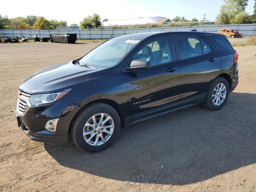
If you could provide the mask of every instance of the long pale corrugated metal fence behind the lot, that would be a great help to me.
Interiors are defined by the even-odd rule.
[[[34,35],[39,37],[50,37],[50,34],[76,33],[77,39],[110,39],[117,36],[141,32],[152,31],[191,31],[196,29],[200,32],[217,33],[220,28],[232,28],[239,30],[243,36],[252,36],[256,34],[256,24],[240,25],[208,25],[208,26],[191,26],[191,27],[160,27],[160,28],[136,28],[136,29],[103,29],[103,30],[0,30],[4,36],[25,36],[33,38]]]

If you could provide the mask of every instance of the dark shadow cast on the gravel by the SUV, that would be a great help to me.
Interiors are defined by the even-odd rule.
[[[218,111],[200,105],[123,129],[98,153],[45,144],[62,166],[104,178],[191,184],[256,162],[256,94],[231,93]]]

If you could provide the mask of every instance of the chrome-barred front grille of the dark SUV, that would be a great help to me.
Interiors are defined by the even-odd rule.
[[[16,111],[20,115],[24,115],[26,113],[28,106],[30,106],[28,99],[31,96],[32,96],[31,94],[28,94],[28,93],[25,93],[25,92],[22,92],[21,90],[19,90]]]

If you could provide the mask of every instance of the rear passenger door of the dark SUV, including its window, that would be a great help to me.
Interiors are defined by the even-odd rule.
[[[180,66],[179,99],[188,104],[202,102],[210,80],[220,70],[220,55],[199,36],[174,37]]]

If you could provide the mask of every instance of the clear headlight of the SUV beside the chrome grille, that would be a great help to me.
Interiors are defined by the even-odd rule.
[[[58,92],[58,93],[35,94],[29,98],[29,102],[32,106],[54,102],[54,101],[59,100],[60,98],[64,97],[70,91],[71,91],[71,89],[64,90],[64,91]]]

